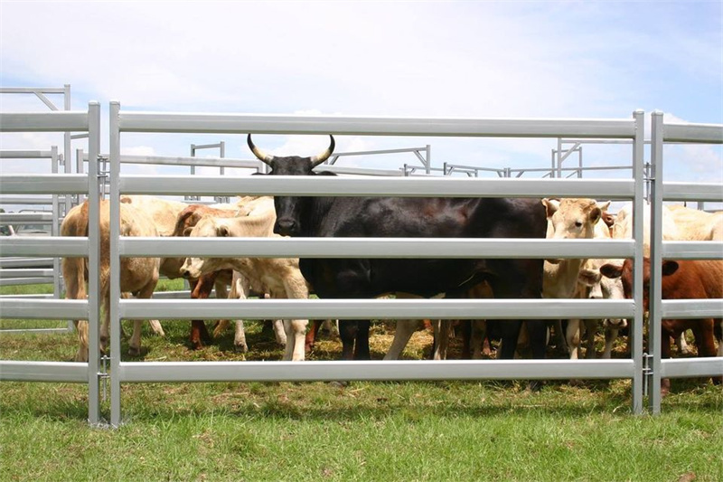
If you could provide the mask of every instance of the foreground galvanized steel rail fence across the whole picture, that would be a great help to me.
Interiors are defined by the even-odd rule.
[[[89,113],[70,118],[53,119],[58,113],[23,115],[0,114],[3,130],[89,130],[89,159],[98,156],[98,105],[91,104]],[[655,119],[656,115],[653,115]],[[69,124],[73,125],[70,126]],[[80,124],[80,126],[79,126]],[[658,125],[660,124],[660,125]],[[653,122],[653,163],[660,163],[662,142],[669,138],[694,142],[723,142],[723,126],[671,127],[670,137],[661,134],[666,125]],[[657,131],[656,131],[657,129]],[[654,191],[665,199],[702,199],[723,201],[720,185],[699,184],[694,187],[671,184],[662,186],[660,177],[646,179],[643,168],[643,112],[635,111],[630,119],[445,119],[445,118],[346,118],[228,114],[175,114],[126,112],[117,102],[110,104],[110,216],[119,218],[120,194],[182,194],[237,195],[282,194],[310,196],[450,196],[450,197],[595,197],[598,199],[632,200],[634,212],[643,212],[644,184],[658,186]],[[344,178],[283,176],[216,176],[201,175],[121,175],[121,137],[126,132],[162,133],[234,133],[234,134],[334,134],[374,136],[452,136],[452,137],[576,137],[581,139],[627,139],[631,144],[633,179],[630,180],[568,180],[568,179],[480,179],[480,178]],[[656,134],[657,132],[657,134]],[[667,132],[667,130],[665,131]],[[657,136],[657,137],[656,137]],[[660,152],[654,145],[660,142]],[[89,175],[52,183],[37,183],[23,176],[3,175],[3,189],[13,193],[73,192],[89,193],[91,206],[97,202],[98,175],[96,163],[89,163]],[[72,177],[72,176],[71,176]],[[82,179],[82,180],[81,180]],[[51,181],[48,178],[48,181]],[[161,181],[161,182],[159,182]],[[663,187],[663,189],[661,189]],[[697,196],[697,197],[696,197]],[[662,199],[662,198],[661,198]],[[661,200],[656,198],[653,219],[660,216]],[[656,211],[657,209],[657,211]],[[91,213],[97,220],[97,208]],[[95,224],[95,226],[93,226]],[[643,276],[642,262],[635,263],[634,299],[632,300],[564,300],[564,299],[311,299],[311,300],[187,300],[187,299],[120,299],[117,277],[120,258],[167,256],[253,256],[253,257],[315,257],[315,258],[633,258],[643,257],[643,216],[634,216],[633,240],[510,240],[510,239],[376,239],[376,238],[294,238],[294,239],[199,239],[199,238],[122,238],[119,223],[111,222],[110,319],[110,423],[121,423],[120,387],[123,383],[141,382],[212,382],[212,381],[331,381],[331,380],[449,380],[449,379],[570,379],[620,378],[632,380],[632,410],[643,411],[643,376],[651,382],[651,408],[660,410],[661,374],[664,376],[700,376],[723,374],[719,359],[690,360],[682,364],[662,363],[660,336],[655,343],[653,331],[652,372],[643,372]],[[655,224],[653,223],[653,231]],[[91,281],[97,283],[97,222],[88,241],[55,239],[52,244],[29,240],[29,244],[6,243],[13,253],[23,255],[84,256],[90,255]],[[659,233],[658,233],[659,234]],[[660,236],[653,237],[653,256],[661,253]],[[688,247],[691,246],[691,250]],[[95,247],[95,249],[91,249]],[[665,251],[667,249],[667,251]],[[657,250],[657,251],[656,251]],[[663,255],[683,258],[716,258],[723,252],[723,243],[662,243]],[[657,254],[656,254],[657,253]],[[682,256],[678,256],[681,254]],[[93,260],[93,257],[96,257]],[[660,282],[660,275],[653,284]],[[2,317],[87,317],[90,320],[89,364],[50,364],[0,362],[2,380],[46,380],[89,383],[89,421],[99,421],[98,365],[98,291],[89,291],[89,301],[55,302],[49,309],[39,309],[0,301]],[[94,298],[95,297],[95,298]],[[660,292],[658,292],[660,298]],[[659,305],[651,308],[651,319],[661,314]],[[678,305],[664,314],[678,314]],[[689,307],[685,305],[685,307]],[[695,306],[700,307],[699,303]],[[723,300],[704,303],[706,309],[723,316]],[[9,309],[9,311],[6,311]],[[657,311],[656,311],[657,310]],[[700,309],[693,308],[696,314]],[[122,362],[120,357],[121,319],[221,319],[221,318],[337,318],[337,319],[512,319],[512,318],[628,318],[631,323],[632,355],[615,360],[462,360],[462,361],[385,361],[385,362]],[[659,329],[653,323],[652,330]],[[54,378],[61,374],[63,380]],[[644,375],[643,375],[644,373]]]

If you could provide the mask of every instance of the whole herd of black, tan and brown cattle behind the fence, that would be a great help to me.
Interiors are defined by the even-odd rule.
[[[329,175],[314,172],[331,156],[330,146],[319,156],[270,156],[255,146],[251,151],[270,167],[268,175]],[[631,205],[616,215],[609,203],[593,199],[405,198],[405,197],[239,197],[236,203],[186,204],[142,195],[123,195],[120,203],[121,236],[191,237],[440,237],[440,238],[631,238]],[[650,213],[644,213],[645,223]],[[100,299],[109,298],[109,209],[100,206]],[[683,206],[663,207],[663,239],[723,241],[723,213],[706,213]],[[647,233],[648,230],[646,229]],[[70,210],[61,226],[62,236],[88,235],[88,204]],[[649,250],[644,240],[643,250]],[[62,262],[66,298],[86,297],[86,260]],[[160,275],[188,279],[192,298],[247,298],[251,292],[270,298],[632,298],[631,260],[432,260],[432,259],[254,259],[254,258],[122,258],[120,288],[123,296],[150,298]],[[723,260],[674,261],[662,266],[662,298],[723,298]],[[650,270],[645,259],[644,303],[647,309]],[[230,291],[228,287],[230,286]],[[100,327],[101,349],[108,345],[108,309]],[[131,354],[140,351],[140,321],[130,339]],[[582,335],[587,333],[587,357],[595,356],[598,326],[606,332],[604,358],[626,326],[624,319],[567,320],[556,326],[564,335],[570,358],[577,358]],[[286,345],[285,360],[304,360],[314,343],[319,323],[308,330],[307,320],[274,323],[277,341]],[[76,360],[88,359],[87,322],[77,322],[80,344]],[[369,359],[369,320],[341,320],[339,335],[343,359]],[[385,359],[396,359],[418,329],[417,320],[399,320]],[[435,358],[446,356],[449,323],[433,323]],[[155,331],[163,333],[152,321]],[[464,354],[479,357],[483,340],[499,339],[498,357],[510,359],[522,343],[535,358],[544,358],[549,322],[504,320],[469,322]],[[522,329],[525,328],[525,329]],[[222,329],[217,326],[214,335]],[[722,319],[663,320],[663,356],[670,356],[671,340],[687,350],[682,334],[692,330],[700,356],[723,356]],[[716,349],[714,338],[718,341]],[[202,320],[192,321],[194,348],[211,336]],[[526,340],[523,342],[522,340]],[[242,321],[236,322],[234,344],[247,349]]]

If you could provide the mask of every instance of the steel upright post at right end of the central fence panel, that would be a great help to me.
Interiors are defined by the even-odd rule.
[[[633,412],[643,413],[643,156],[644,149],[644,112],[635,110],[635,138],[633,143],[633,175],[635,180],[633,234],[635,240],[633,296],[635,313],[631,337],[631,354],[633,356]]]

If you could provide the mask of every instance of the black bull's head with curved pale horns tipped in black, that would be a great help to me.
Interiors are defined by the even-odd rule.
[[[247,141],[254,156],[257,156],[261,162],[271,167],[268,175],[315,175],[314,168],[322,164],[333,153],[333,136],[329,137],[331,138],[331,144],[323,153],[313,157],[271,156],[254,145],[250,134]],[[308,201],[310,200],[304,197],[274,196],[274,206],[277,211],[274,232],[282,236],[300,235],[305,205]]]

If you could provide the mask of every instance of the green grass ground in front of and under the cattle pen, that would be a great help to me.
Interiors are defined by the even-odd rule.
[[[39,324],[63,326],[2,321]],[[231,332],[192,352],[188,322],[164,329],[164,338],[146,330],[144,354],[124,359],[281,357],[257,323],[245,355]],[[372,357],[391,337],[374,327]],[[418,332],[405,358],[430,343]],[[75,349],[72,334],[0,335],[5,360],[70,361]],[[310,358],[340,350],[325,337]],[[723,392],[698,380],[674,380],[656,417],[630,413],[627,381],[540,392],[489,381],[127,384],[117,430],[90,428],[87,400],[85,385],[0,383],[0,481],[723,480]]]

